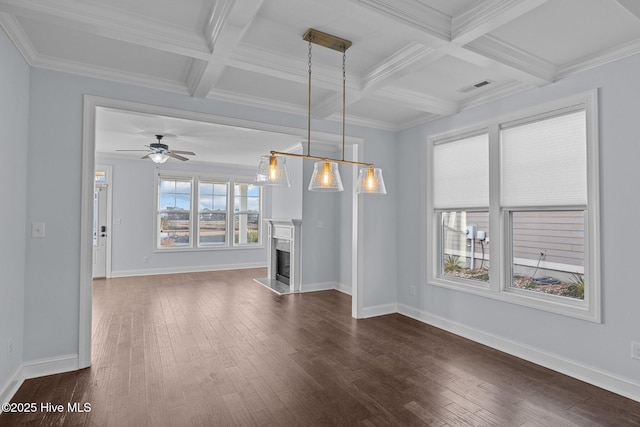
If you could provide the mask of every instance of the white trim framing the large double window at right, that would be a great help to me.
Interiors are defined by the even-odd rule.
[[[534,116],[548,115],[554,111],[584,105],[587,126],[587,207],[585,210],[585,265],[584,277],[587,283],[584,300],[572,300],[546,295],[543,293],[525,292],[514,289],[511,284],[508,213],[510,210],[501,207],[500,201],[500,125],[527,120]],[[562,314],[596,323],[602,321],[601,310],[601,274],[600,274],[600,196],[599,196],[599,141],[598,141],[598,92],[597,89],[528,108],[519,112],[500,116],[478,123],[474,126],[433,135],[426,141],[428,173],[426,195],[426,276],[427,285],[434,285],[470,294],[480,295],[512,304],[527,306],[552,313]],[[491,275],[488,285],[481,282],[470,282],[443,277],[439,272],[439,223],[438,213],[433,207],[433,147],[438,143],[464,138],[470,134],[489,133],[489,245],[491,259]],[[473,210],[469,207],[467,210]],[[553,209],[549,206],[544,209]],[[566,209],[567,207],[562,207]],[[576,207],[578,209],[585,208]],[[536,209],[540,209],[539,207]],[[465,210],[465,209],[461,209]]]

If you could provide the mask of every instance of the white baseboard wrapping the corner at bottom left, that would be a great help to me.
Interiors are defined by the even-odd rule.
[[[48,359],[33,360],[18,367],[0,389],[0,403],[10,402],[24,380],[78,370],[78,355],[69,354]],[[0,413],[2,410],[0,409]]]

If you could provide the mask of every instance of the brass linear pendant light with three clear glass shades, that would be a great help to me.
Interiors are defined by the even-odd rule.
[[[318,160],[313,169],[313,176],[309,183],[310,191],[342,191],[342,179],[338,163],[364,166],[358,174],[356,193],[387,194],[382,178],[382,169],[374,167],[373,163],[354,162],[344,159],[345,150],[345,110],[346,110],[346,51],[351,47],[351,42],[322,31],[307,30],[302,37],[309,42],[309,94],[307,115],[307,154],[284,153],[271,151],[268,156],[262,156],[256,174],[256,183],[259,185],[274,185],[290,187],[289,171],[285,156],[301,157],[303,159]],[[342,52],[342,159],[312,156],[311,153],[311,44],[328,47]]]

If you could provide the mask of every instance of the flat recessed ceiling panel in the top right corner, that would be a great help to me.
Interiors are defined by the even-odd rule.
[[[562,66],[640,37],[640,23],[615,1],[553,0],[491,35]]]

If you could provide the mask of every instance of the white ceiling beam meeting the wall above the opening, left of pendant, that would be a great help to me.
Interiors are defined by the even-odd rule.
[[[218,0],[207,20],[205,38],[213,50],[207,61],[194,61],[187,84],[194,98],[206,97],[226,68],[264,0]]]

